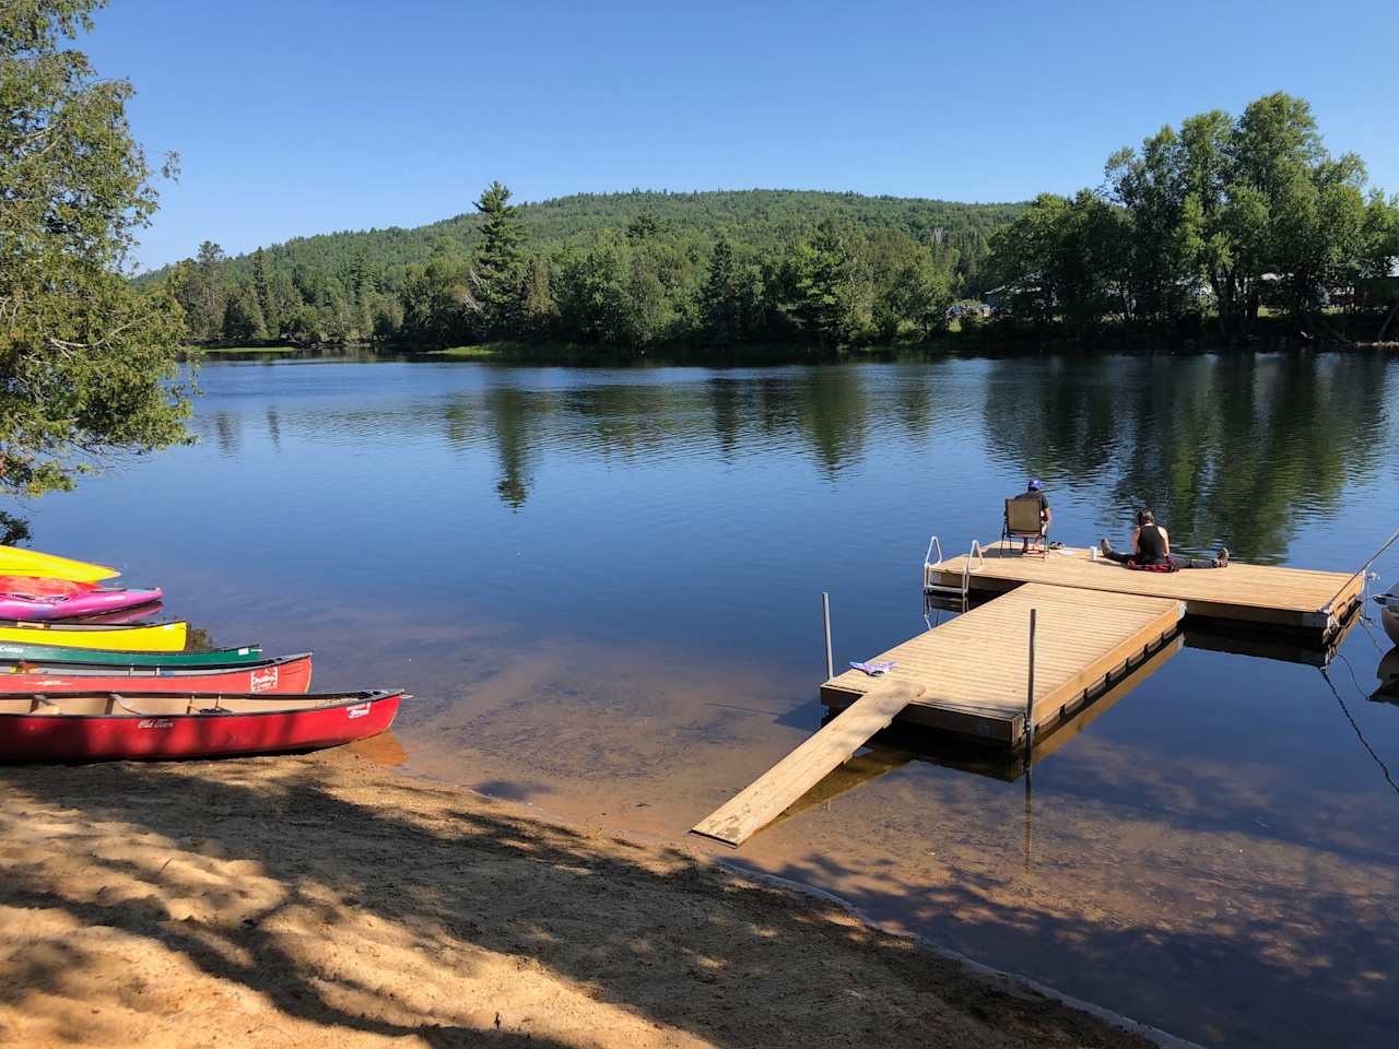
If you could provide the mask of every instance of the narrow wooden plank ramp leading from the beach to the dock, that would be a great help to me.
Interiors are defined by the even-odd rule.
[[[923,691],[923,685],[909,681],[876,680],[838,718],[695,824],[691,834],[739,848],[820,783],[831,769],[849,759]]]

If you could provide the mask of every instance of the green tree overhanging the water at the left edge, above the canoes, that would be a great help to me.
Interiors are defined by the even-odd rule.
[[[155,211],[132,85],[67,46],[97,0],[0,6],[0,485],[38,494],[187,441],[185,326],[125,276]],[[169,165],[168,165],[169,166]]]

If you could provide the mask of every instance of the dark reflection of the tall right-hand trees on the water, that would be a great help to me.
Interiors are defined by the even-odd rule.
[[[1372,355],[1165,357],[997,362],[985,425],[997,456],[1048,478],[1108,487],[1123,526],[1150,506],[1181,545],[1281,559],[1301,512],[1388,455],[1385,382]]]

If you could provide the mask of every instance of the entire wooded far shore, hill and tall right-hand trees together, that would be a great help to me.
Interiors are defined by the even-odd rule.
[[[1030,204],[841,193],[620,193],[332,234],[155,276],[196,341],[918,343],[1112,331],[1242,338],[1262,322],[1382,337],[1399,197],[1332,157],[1273,94],[1114,154],[1105,180]],[[986,298],[993,311],[957,311]],[[954,319],[956,315],[960,317]]]

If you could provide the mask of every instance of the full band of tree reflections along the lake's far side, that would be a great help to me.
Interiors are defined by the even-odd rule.
[[[986,460],[1038,473],[1123,526],[1150,505],[1181,545],[1226,543],[1269,561],[1286,555],[1304,515],[1336,509],[1347,481],[1375,476],[1392,432],[1393,368],[1375,355],[585,369],[567,382],[553,369],[463,368],[460,386],[424,383],[376,410],[271,407],[270,442],[436,434],[463,455],[488,449],[494,495],[512,509],[529,502],[551,459],[683,470],[686,460],[795,457],[831,485],[886,466],[891,484],[916,484],[925,456],[950,456],[963,477]],[[228,411],[201,421],[225,455],[236,455],[242,422]],[[947,476],[923,480],[937,501],[985,497],[956,491]]]

